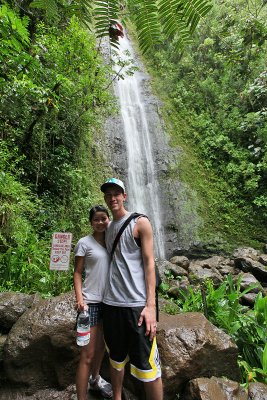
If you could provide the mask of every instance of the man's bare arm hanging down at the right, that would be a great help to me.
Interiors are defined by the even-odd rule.
[[[136,223],[136,233],[141,240],[142,257],[144,262],[144,272],[146,281],[146,306],[143,309],[138,325],[141,325],[143,320],[146,323],[146,335],[152,340],[156,335],[156,275],[155,275],[155,260],[153,251],[153,232],[149,220],[145,217],[138,219]]]

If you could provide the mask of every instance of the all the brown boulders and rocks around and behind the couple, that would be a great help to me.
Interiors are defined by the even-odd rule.
[[[180,291],[186,292],[207,279],[218,287],[229,274],[234,282],[239,281],[242,291],[253,285],[253,290],[242,296],[247,309],[253,307],[258,293],[267,294],[267,254],[252,248],[237,249],[229,258],[214,255],[191,259],[178,254],[170,261],[157,262],[157,267],[171,298],[179,298]],[[76,400],[73,382],[79,349],[75,344],[74,300],[74,292],[49,299],[0,293],[0,400]],[[160,299],[161,311],[170,306],[168,302]],[[161,312],[157,341],[166,400],[176,399],[178,393],[183,400],[200,398],[201,390],[210,392],[211,399],[226,398],[226,393],[236,397],[238,391],[236,398],[240,400],[267,400],[266,385],[250,384],[249,393],[242,392],[236,344],[202,313]],[[125,391],[123,400],[143,400],[143,389],[126,372],[125,386],[131,393]],[[101,375],[109,379],[107,357]],[[66,389],[59,391],[55,389],[58,387]],[[220,396],[214,396],[214,387]],[[101,396],[88,395],[88,400],[97,398]]]

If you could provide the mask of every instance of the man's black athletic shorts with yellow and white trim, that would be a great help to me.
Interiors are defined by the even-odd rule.
[[[145,322],[138,326],[144,307],[114,307],[103,304],[103,327],[111,365],[118,371],[130,361],[131,374],[143,382],[161,376],[156,338],[145,336]]]

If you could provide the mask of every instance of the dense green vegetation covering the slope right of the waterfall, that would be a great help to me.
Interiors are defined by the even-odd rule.
[[[266,21],[261,1],[216,1],[186,52],[166,39],[146,62],[183,150],[169,173],[197,193],[201,239],[232,248],[267,236]]]

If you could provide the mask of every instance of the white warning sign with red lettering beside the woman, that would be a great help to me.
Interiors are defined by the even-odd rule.
[[[70,265],[72,233],[55,232],[52,238],[50,269],[66,271]]]

